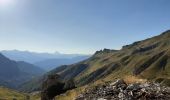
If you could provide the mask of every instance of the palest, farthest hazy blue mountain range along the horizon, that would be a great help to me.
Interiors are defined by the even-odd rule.
[[[15,61],[25,61],[28,63],[36,63],[47,59],[71,59],[79,56],[88,56],[82,54],[61,54],[61,53],[36,53],[30,51],[19,50],[3,50],[1,51],[6,57]]]

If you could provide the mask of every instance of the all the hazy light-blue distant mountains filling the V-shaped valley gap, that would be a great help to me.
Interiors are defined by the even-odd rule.
[[[35,53],[19,50],[1,51],[6,57],[15,61],[25,61],[40,68],[49,71],[61,65],[73,64],[90,57],[90,55],[81,54],[61,54],[61,53]]]

